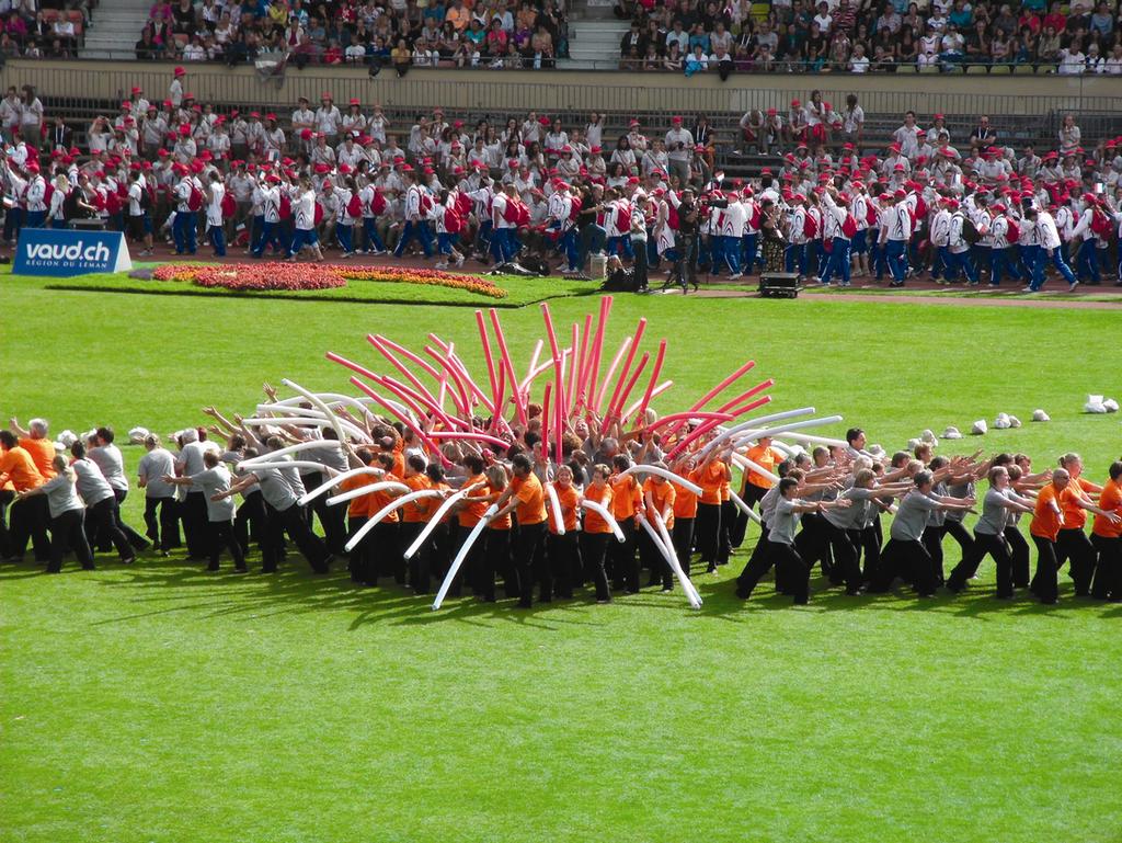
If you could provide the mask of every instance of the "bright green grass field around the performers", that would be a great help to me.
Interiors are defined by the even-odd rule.
[[[481,365],[463,308],[2,282],[0,412],[56,430],[164,433],[286,376],[344,390],[323,352],[373,361],[367,332],[435,331]],[[551,302],[564,326],[596,305]],[[645,348],[670,340],[663,411],[751,357],[778,407],[842,413],[889,450],[1040,406],[1051,423],[958,449],[1075,449],[1095,478],[1122,453],[1118,416],[1079,413],[1120,383],[1111,311],[629,296],[606,345],[641,315]],[[525,360],[539,308],[503,323]],[[1058,607],[1001,603],[988,562],[955,599],[793,608],[769,580],[742,604],[744,559],[697,577],[697,613],[680,592],[432,613],[294,562],[0,569],[0,839],[1122,841],[1116,605],[1077,602],[1066,572]]]

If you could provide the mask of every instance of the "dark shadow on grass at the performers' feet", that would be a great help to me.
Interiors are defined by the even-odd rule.
[[[9,566],[0,569],[0,587],[4,583],[45,576],[34,563]],[[1122,617],[1122,605],[1103,605],[1098,601],[1075,597],[1070,583],[1060,586],[1058,605],[1046,606],[1027,590],[1018,592],[1011,601],[999,599],[992,586],[973,585],[959,595],[940,592],[931,598],[917,597],[908,587],[898,584],[889,594],[849,596],[839,587],[829,586],[822,577],[811,580],[811,601],[807,606],[792,606],[791,598],[778,594],[769,578],[762,581],[748,601],[735,595],[735,575],[741,563],[734,560],[714,575],[696,574],[695,586],[702,597],[700,611],[693,612],[686,604],[675,584],[671,594],[645,589],[641,595],[618,595],[608,605],[595,603],[591,588],[578,589],[569,601],[535,603],[532,608],[518,608],[514,599],[485,603],[475,597],[448,598],[440,611],[432,611],[433,594],[416,595],[390,578],[383,578],[378,586],[360,586],[350,581],[344,562],[335,563],[329,575],[313,574],[298,555],[291,555],[276,574],[234,574],[232,565],[223,559],[223,568],[208,572],[203,563],[187,562],[182,557],[169,559],[141,558],[134,566],[120,566],[101,560],[99,570],[89,574],[76,566],[64,568],[68,572],[94,578],[107,588],[121,590],[134,610],[126,614],[105,617],[94,625],[128,623],[144,617],[174,613],[191,613],[200,617],[243,617],[257,620],[278,615],[312,612],[353,613],[348,629],[358,630],[367,624],[381,623],[402,626],[429,626],[439,623],[460,623],[484,629],[496,623],[558,631],[567,625],[600,626],[608,622],[607,614],[620,610],[655,608],[679,614],[716,618],[732,623],[751,622],[758,612],[852,612],[889,611],[938,613],[975,620],[1001,615],[1047,615],[1070,620],[1075,613],[1089,611],[1105,618]],[[110,577],[100,576],[109,571]],[[435,589],[440,584],[433,583]],[[502,593],[502,589],[499,589]],[[595,614],[594,614],[595,613]]]

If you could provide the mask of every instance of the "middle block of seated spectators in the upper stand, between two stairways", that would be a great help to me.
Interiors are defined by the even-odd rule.
[[[552,67],[565,55],[555,0],[157,0],[138,59],[251,62],[280,54],[310,64]]]

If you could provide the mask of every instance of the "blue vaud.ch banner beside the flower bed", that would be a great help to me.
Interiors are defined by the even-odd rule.
[[[24,228],[11,271],[16,275],[70,277],[131,268],[129,247],[120,231]]]

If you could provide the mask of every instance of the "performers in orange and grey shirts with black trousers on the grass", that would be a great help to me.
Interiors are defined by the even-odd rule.
[[[267,385],[266,392],[276,400]],[[1068,562],[1075,596],[1122,602],[1122,460],[1096,484],[1083,476],[1077,453],[1034,473],[1022,453],[936,456],[921,442],[890,456],[866,447],[864,430],[853,428],[845,446],[809,452],[766,436],[737,446],[746,467],[734,485],[734,448],[707,448],[717,431],[675,453],[675,442],[700,422],[679,437],[666,433],[672,428],[656,433],[653,412],[643,425],[624,431],[616,422],[604,436],[595,432],[599,419],[579,421],[562,434],[560,461],[551,459],[555,438],[542,440],[535,404],[525,424],[511,427],[505,448],[458,440],[440,453],[416,431],[369,412],[335,410],[358,425],[365,443],[291,415],[230,420],[214,407],[204,412],[213,419],[209,428],[184,429],[168,443],[135,432],[146,449],[137,466],[146,537],[121,520],[130,482],[110,428],[71,437],[67,448],[53,442],[45,420],[24,430],[12,419],[0,431],[0,516],[10,512],[0,517],[0,558],[22,562],[30,542],[36,561],[58,572],[71,552],[93,568],[94,550],[116,548],[131,563],[149,542],[165,557],[183,542],[188,561],[218,571],[228,553],[234,570],[246,572],[256,546],[260,570],[269,574],[291,542],[318,574],[346,560],[357,584],[392,579],[427,594],[465,542],[473,542],[452,596],[467,587],[485,602],[502,594],[528,607],[535,593],[539,602],[569,599],[588,586],[590,597],[607,603],[613,593],[637,593],[643,571],[645,587],[673,590],[671,559],[686,576],[727,565],[758,506],[761,532],[735,580],[742,598],[775,568],[776,592],[807,603],[815,565],[828,587],[848,595],[885,593],[898,581],[920,597],[940,587],[957,594],[988,555],[1000,598],[1028,588],[1056,603],[1058,570]],[[435,416],[425,422],[426,431],[438,425]],[[296,460],[288,453],[294,443],[302,448]],[[340,500],[332,505],[323,492]],[[434,494],[415,494],[424,492]],[[967,514],[980,515],[973,533]],[[1031,579],[1022,516],[1037,549]],[[430,521],[436,523],[426,530]],[[480,522],[484,538],[473,541]],[[949,572],[947,535],[960,548]]]

